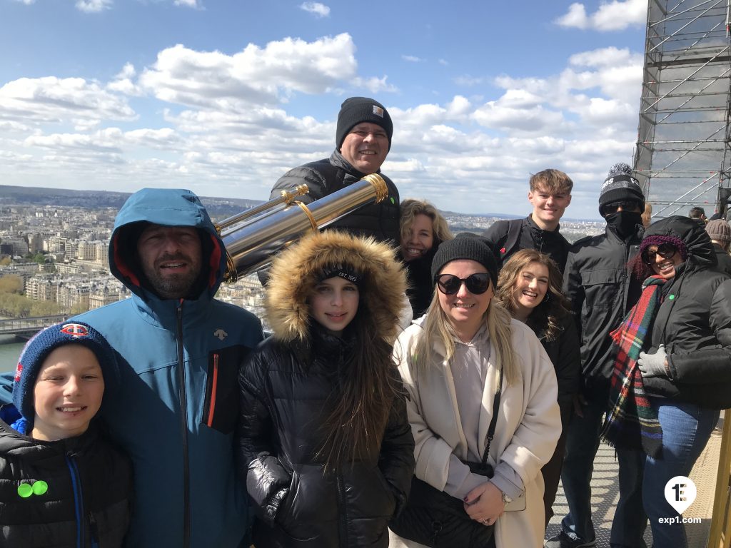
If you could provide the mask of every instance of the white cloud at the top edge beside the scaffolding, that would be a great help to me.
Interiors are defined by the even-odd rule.
[[[597,31],[623,31],[630,26],[643,26],[647,20],[646,0],[612,0],[599,4],[596,12],[588,15],[584,4],[575,2],[568,12],[554,22],[570,28],[593,28]]]

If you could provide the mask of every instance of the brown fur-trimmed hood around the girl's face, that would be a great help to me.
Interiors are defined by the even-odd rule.
[[[374,338],[392,344],[399,332],[406,275],[395,250],[374,238],[327,230],[303,237],[272,263],[265,298],[266,317],[274,338],[284,343],[310,342],[307,297],[325,267],[346,265],[363,275],[357,314],[371,316]]]

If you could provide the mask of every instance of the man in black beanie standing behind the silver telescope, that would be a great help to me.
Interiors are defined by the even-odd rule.
[[[393,123],[385,107],[368,97],[346,99],[338,113],[335,151],[329,159],[295,167],[282,175],[271,191],[271,198],[281,191],[306,184],[310,191],[300,201],[308,204],[357,182],[366,175],[379,173],[391,148]],[[398,189],[379,173],[388,187],[388,196],[344,216],[329,228],[344,229],[376,240],[391,240],[398,245]]]

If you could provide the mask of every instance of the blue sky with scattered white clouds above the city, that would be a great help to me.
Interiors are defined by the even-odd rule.
[[[0,183],[267,199],[329,156],[349,96],[394,123],[401,197],[597,218],[637,138],[647,0],[0,0]],[[1,192],[1,191],[0,191]]]

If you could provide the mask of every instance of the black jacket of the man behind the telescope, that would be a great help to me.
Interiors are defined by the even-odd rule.
[[[380,172],[379,175],[388,186],[388,196],[377,204],[368,204],[358,208],[333,222],[327,228],[345,229],[360,236],[374,236],[379,241],[399,242],[398,189],[385,175]],[[282,175],[274,184],[270,198],[279,197],[283,190],[294,189],[295,186],[306,184],[310,191],[305,196],[299,197],[298,200],[303,204],[308,204],[344,189],[365,176],[364,173],[352,167],[341,153],[334,151],[329,159],[325,158],[295,167]]]

